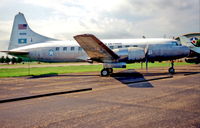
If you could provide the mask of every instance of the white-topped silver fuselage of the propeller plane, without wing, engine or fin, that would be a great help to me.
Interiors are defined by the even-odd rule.
[[[187,56],[189,49],[180,46],[172,39],[112,39],[101,40],[110,49],[123,49],[128,47],[148,47],[149,58],[152,60],[167,60],[170,57],[181,58]],[[87,61],[89,58],[86,52],[76,41],[46,41],[43,43],[31,44],[11,51],[27,51],[28,58],[45,62],[76,62]]]

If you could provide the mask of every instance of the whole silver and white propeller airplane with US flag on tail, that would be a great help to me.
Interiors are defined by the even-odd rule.
[[[76,41],[61,41],[40,35],[29,27],[24,14],[14,18],[7,54],[41,62],[100,62],[101,76],[127,63],[171,60],[169,73],[175,73],[173,60],[188,56],[189,48],[164,38],[110,39],[100,41],[92,34],[74,36]],[[103,43],[104,42],[104,43]]]

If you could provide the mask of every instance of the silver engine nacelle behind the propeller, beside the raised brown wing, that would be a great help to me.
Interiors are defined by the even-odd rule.
[[[129,61],[141,61],[145,58],[145,51],[143,48],[129,47],[113,50],[120,59],[128,59]]]

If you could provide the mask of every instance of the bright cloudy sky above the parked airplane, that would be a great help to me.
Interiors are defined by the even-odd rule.
[[[1,0],[0,50],[7,47],[12,22],[24,13],[35,32],[71,40],[173,37],[200,32],[200,0]]]

